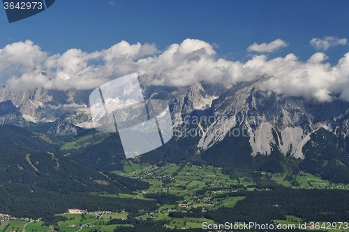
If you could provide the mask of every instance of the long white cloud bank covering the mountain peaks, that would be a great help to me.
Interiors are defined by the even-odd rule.
[[[343,43],[338,41],[336,43]],[[325,50],[322,42],[314,43]],[[249,48],[269,52],[285,45],[285,41],[278,39],[269,44],[255,43]],[[88,53],[70,49],[63,55],[50,55],[28,40],[0,50],[0,76],[12,76],[6,87],[24,90],[34,87],[94,89],[133,72],[156,75],[154,85],[187,86],[207,80],[231,86],[267,73],[274,78],[265,82],[265,89],[279,94],[318,101],[331,101],[336,96],[349,101],[349,52],[335,65],[326,62],[323,52],[316,52],[308,61],[299,61],[290,53],[274,59],[255,55],[243,63],[217,57],[215,48],[216,45],[195,39],[172,44],[163,51],[155,44],[130,45],[121,41],[107,50]]]

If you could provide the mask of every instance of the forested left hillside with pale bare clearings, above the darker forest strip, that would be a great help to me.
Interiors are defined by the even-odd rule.
[[[112,173],[51,152],[0,147],[0,183],[31,184],[62,194],[108,191],[132,193],[149,184]]]

